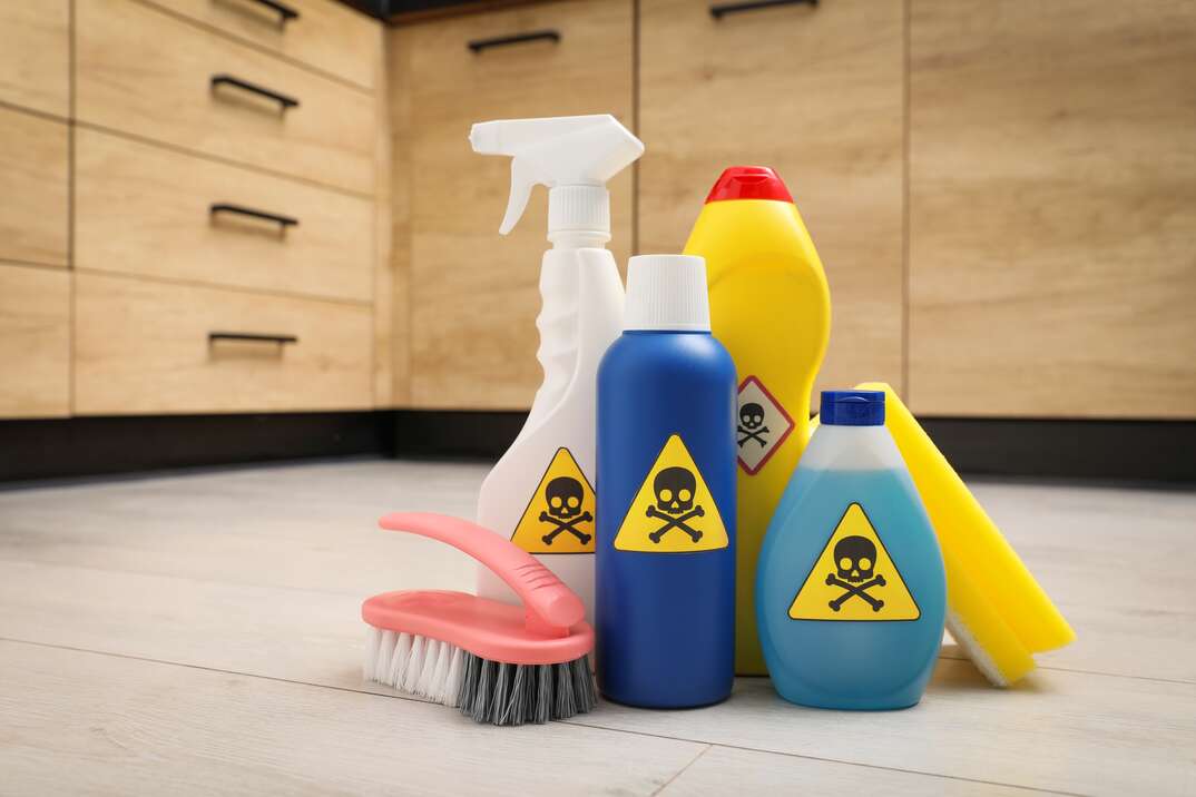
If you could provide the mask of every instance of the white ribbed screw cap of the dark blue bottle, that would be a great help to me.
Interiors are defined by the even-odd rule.
[[[636,255],[627,264],[624,330],[709,332],[706,258]]]

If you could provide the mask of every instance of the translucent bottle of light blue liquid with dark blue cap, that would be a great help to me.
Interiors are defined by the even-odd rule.
[[[904,709],[942,640],[946,580],[922,499],[884,427],[885,394],[826,391],[773,516],[756,618],[773,685],[823,709]]]

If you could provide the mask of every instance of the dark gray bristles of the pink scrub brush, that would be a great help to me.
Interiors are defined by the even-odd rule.
[[[465,654],[457,705],[475,722],[543,724],[598,705],[590,657],[563,664],[506,664]]]

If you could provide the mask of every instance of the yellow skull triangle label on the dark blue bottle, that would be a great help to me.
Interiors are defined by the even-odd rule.
[[[728,544],[727,528],[706,479],[681,436],[671,436],[627,510],[615,535],[615,547],[690,553],[725,548]]]

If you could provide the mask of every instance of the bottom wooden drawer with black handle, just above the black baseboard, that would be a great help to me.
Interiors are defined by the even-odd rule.
[[[75,274],[79,415],[353,410],[371,405],[360,305]],[[295,343],[210,341],[213,333]]]

